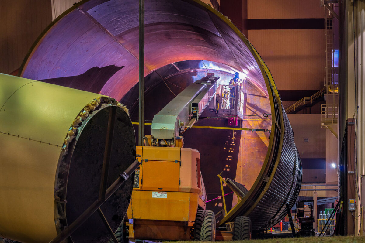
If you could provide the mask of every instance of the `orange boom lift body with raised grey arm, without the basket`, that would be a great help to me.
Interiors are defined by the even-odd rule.
[[[180,134],[215,97],[219,78],[208,73],[189,85],[154,116],[145,146],[137,146],[142,164],[127,212],[129,239],[215,240],[215,215],[205,210],[200,154],[183,148]]]

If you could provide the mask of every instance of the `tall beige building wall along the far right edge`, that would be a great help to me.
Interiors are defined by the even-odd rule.
[[[358,203],[358,199],[365,198],[365,184],[361,183],[365,175],[365,2],[354,1],[354,3],[351,3],[350,0],[345,0],[342,2],[341,7],[343,22],[341,23],[340,34],[343,39],[341,40],[340,49],[338,148],[341,164],[347,164],[349,168],[352,168],[350,166],[354,164],[356,170],[350,176],[347,170],[341,169],[340,176],[342,183],[346,181],[344,180],[346,177],[349,183],[348,185],[341,185],[344,187],[342,193],[345,193],[345,198],[347,196],[347,199],[356,199],[356,211],[353,215],[361,215],[363,209],[360,208],[361,204]],[[352,122],[355,124],[352,124]],[[350,136],[351,133],[355,132],[356,137]],[[343,142],[347,147],[342,146]],[[353,147],[355,147],[355,151]],[[350,181],[354,183],[350,184]],[[349,187],[354,188],[353,192],[348,189]],[[364,205],[364,202],[362,202],[362,205]],[[354,219],[355,223],[353,223],[353,215],[347,214],[347,226],[344,226],[346,227],[345,233],[347,229],[348,234],[357,235],[361,220],[364,219],[363,217],[357,217]],[[353,226],[355,230],[353,230]],[[364,225],[362,234],[365,234]]]

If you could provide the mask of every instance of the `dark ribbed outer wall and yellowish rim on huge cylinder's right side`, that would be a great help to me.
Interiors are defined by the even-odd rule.
[[[262,71],[269,80],[268,86],[271,91],[269,97],[272,107],[272,131],[269,149],[253,187],[219,224],[245,215],[251,218],[253,230],[261,230],[274,226],[287,215],[286,203],[289,203],[290,207],[295,204],[300,191],[302,166],[293,131],[276,85],[268,67],[255,49],[254,53],[260,58]]]

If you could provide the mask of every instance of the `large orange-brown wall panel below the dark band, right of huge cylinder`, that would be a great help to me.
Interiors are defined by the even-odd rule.
[[[323,88],[324,30],[249,30],[248,37],[278,90]]]

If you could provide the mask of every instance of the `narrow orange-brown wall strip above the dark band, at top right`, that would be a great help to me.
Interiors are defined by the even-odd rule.
[[[249,19],[323,18],[319,0],[248,0]]]

